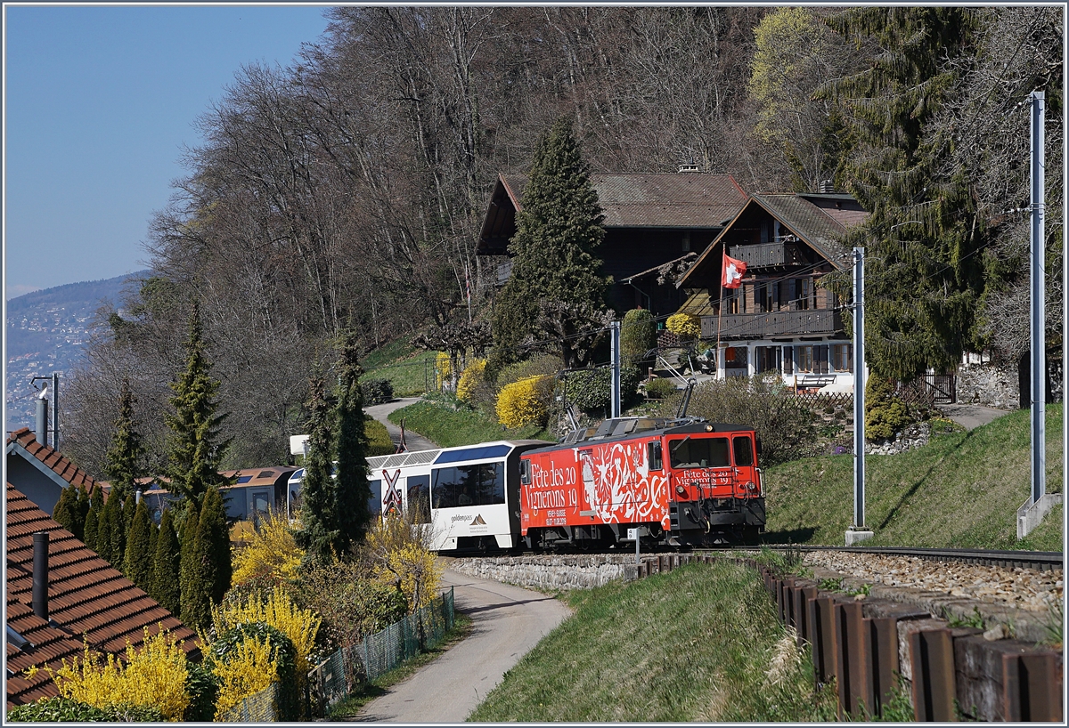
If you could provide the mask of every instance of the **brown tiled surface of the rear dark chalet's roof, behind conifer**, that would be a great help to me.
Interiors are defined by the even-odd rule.
[[[502,174],[520,209],[527,176]],[[606,227],[719,227],[746,202],[746,193],[729,174],[591,173]]]

